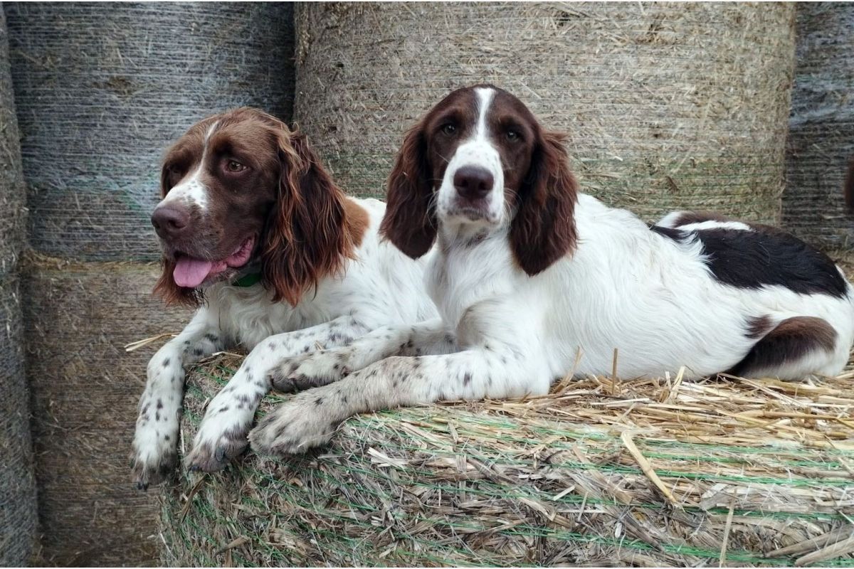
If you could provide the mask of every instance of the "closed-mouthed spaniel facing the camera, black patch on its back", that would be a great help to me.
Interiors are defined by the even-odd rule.
[[[382,232],[426,268],[441,317],[284,362],[316,385],[267,415],[255,450],[325,443],[354,413],[541,395],[566,374],[836,374],[854,291],[780,230],[676,212],[647,226],[576,191],[561,136],[490,85],[457,90],[407,134]]]

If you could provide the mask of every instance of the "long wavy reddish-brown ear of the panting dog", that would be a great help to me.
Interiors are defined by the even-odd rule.
[[[354,244],[345,227],[346,198],[305,136],[282,125],[278,147],[278,201],[262,237],[261,278],[274,300],[296,305],[309,287],[342,269]]]

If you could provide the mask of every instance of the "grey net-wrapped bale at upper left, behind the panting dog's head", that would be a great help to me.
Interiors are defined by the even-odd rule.
[[[197,119],[289,120],[284,3],[6,3],[30,239],[79,260],[150,260],[164,149]]]

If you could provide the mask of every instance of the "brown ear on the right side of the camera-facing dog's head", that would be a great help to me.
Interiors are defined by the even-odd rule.
[[[557,133],[541,135],[518,192],[510,243],[518,264],[529,276],[546,270],[576,247],[573,212],[578,188],[563,141],[564,135]]]

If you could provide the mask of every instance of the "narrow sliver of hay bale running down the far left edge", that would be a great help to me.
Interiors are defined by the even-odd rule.
[[[37,523],[18,289],[25,212],[6,21],[0,10],[0,566],[26,564]]]

